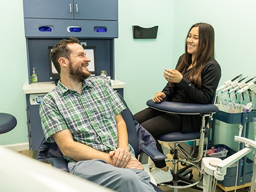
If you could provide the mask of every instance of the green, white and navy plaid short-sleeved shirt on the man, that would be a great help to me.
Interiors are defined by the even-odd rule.
[[[108,153],[118,148],[115,116],[124,109],[108,82],[89,78],[83,81],[81,94],[59,81],[58,86],[45,95],[39,111],[47,142],[54,142],[52,134],[69,129],[74,141]],[[134,156],[132,146],[129,148]]]

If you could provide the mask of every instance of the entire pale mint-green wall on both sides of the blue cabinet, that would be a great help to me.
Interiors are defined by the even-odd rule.
[[[16,116],[16,128],[0,136],[0,144],[28,142],[26,101],[22,87],[27,78],[26,39],[23,5],[12,1],[12,9],[1,12],[2,51],[0,112]],[[8,7],[7,1],[2,2]],[[190,26],[206,22],[216,33],[216,59],[222,68],[221,84],[242,73],[254,77],[256,2],[253,0],[141,0],[119,1],[119,38],[115,39],[115,76],[126,83],[125,100],[133,113],[146,108],[145,102],[165,85],[163,71],[174,68],[184,52]],[[156,39],[133,39],[132,26],[158,25]],[[217,123],[216,143],[232,142],[238,125]],[[253,138],[253,129],[251,138]],[[224,135],[224,136],[223,136]],[[227,141],[228,136],[228,141]]]

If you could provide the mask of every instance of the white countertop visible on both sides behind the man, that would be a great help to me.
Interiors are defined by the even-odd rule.
[[[125,83],[117,79],[111,80],[111,87],[113,89],[125,88]],[[23,93],[34,94],[34,93],[48,93],[55,88],[55,82],[38,82],[38,83],[25,83],[23,86]]]

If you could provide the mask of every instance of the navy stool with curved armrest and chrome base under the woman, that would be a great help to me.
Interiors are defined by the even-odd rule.
[[[211,101],[208,104],[197,104],[197,103],[176,103],[169,101],[162,101],[160,103],[155,103],[153,100],[148,100],[146,104],[153,109],[176,114],[189,114],[195,115],[199,114],[201,116],[201,129],[199,132],[195,133],[182,133],[182,132],[172,132],[166,133],[157,136],[157,140],[168,142],[170,146],[170,151],[173,152],[173,159],[166,159],[166,162],[173,162],[173,180],[169,183],[160,184],[163,186],[168,186],[174,188],[174,191],[183,188],[194,188],[202,190],[202,187],[197,185],[201,178],[202,173],[200,168],[195,164],[198,163],[204,153],[204,141],[207,140],[207,135],[209,134],[209,129],[206,127],[206,118],[210,117],[213,113],[218,111],[218,107],[214,104],[216,99],[216,94],[211,98]],[[181,142],[196,141],[199,140],[198,146],[198,155],[197,157],[192,156],[184,150],[182,146],[179,145]],[[173,143],[173,147],[172,144]],[[189,159],[191,162],[186,161],[185,159],[178,158],[178,152],[181,152],[185,158]],[[188,164],[182,169],[178,168],[178,163],[182,165]],[[192,169],[190,167],[195,167],[199,172],[199,179],[196,182],[193,182]]]

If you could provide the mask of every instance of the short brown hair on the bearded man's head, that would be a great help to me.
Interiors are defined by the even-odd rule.
[[[54,49],[51,51],[51,60],[54,63],[55,69],[60,74],[60,64],[59,58],[64,57],[70,59],[71,50],[68,48],[68,44],[79,44],[79,40],[76,37],[70,37],[69,40],[62,39],[54,46]]]

